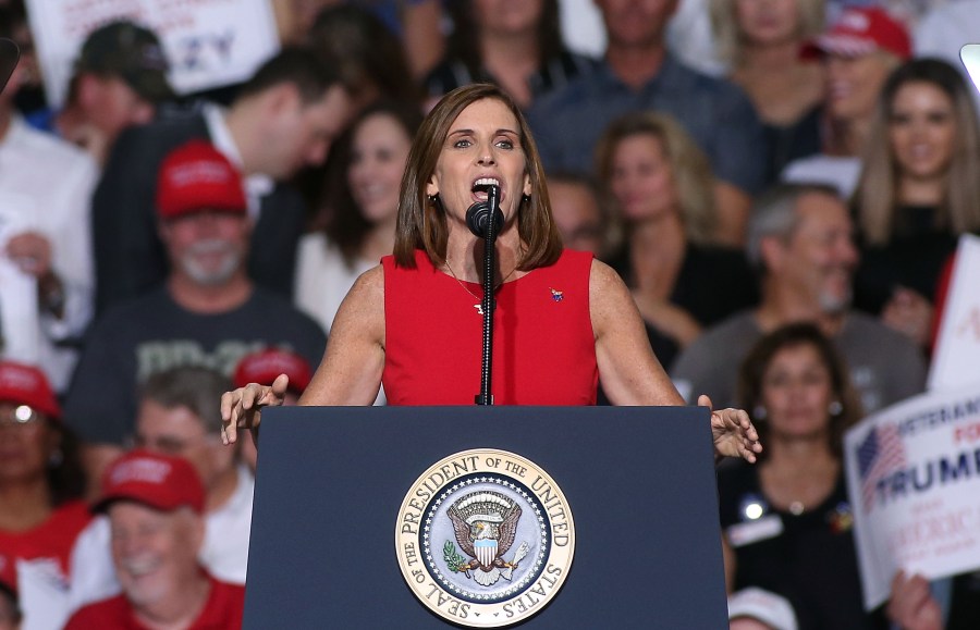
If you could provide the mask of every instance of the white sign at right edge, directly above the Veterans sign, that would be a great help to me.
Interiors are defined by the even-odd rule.
[[[943,319],[929,370],[929,388],[980,383],[980,238],[965,235],[956,249]]]

